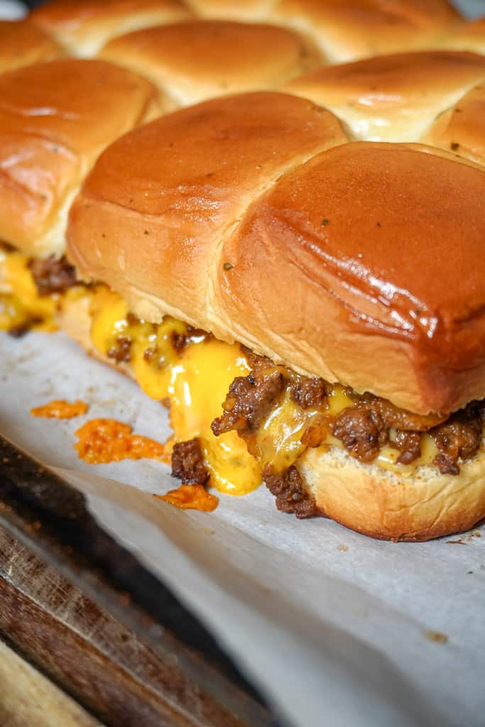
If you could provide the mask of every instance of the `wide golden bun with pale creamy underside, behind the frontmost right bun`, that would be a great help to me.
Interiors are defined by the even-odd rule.
[[[484,81],[483,55],[423,51],[324,66],[284,90],[326,106],[358,139],[407,142],[422,138],[439,114]],[[480,125],[483,113],[472,113],[467,126]]]

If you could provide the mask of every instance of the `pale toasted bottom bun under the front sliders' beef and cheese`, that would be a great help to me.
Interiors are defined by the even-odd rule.
[[[87,353],[133,378],[127,364],[92,345],[89,298],[66,302],[59,322]],[[441,475],[434,467],[399,475],[334,446],[308,449],[295,466],[321,515],[370,537],[430,540],[469,530],[485,518],[484,451],[463,462],[459,475]]]

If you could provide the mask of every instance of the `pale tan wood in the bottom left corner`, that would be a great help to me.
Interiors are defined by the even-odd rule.
[[[103,727],[0,641],[1,727]]]

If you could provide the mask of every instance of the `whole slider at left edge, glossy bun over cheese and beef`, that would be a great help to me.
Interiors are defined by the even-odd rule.
[[[163,108],[147,79],[103,60],[0,75],[0,329],[52,325],[76,282],[63,257],[73,197],[106,145]]]

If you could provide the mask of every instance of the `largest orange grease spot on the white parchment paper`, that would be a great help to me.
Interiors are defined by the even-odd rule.
[[[116,419],[91,419],[77,430],[74,445],[79,459],[89,465],[105,465],[121,459],[159,459],[164,445],[148,437],[132,434],[129,424]]]

